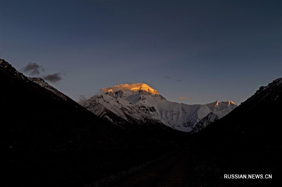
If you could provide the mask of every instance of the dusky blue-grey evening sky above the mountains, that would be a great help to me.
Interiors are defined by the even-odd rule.
[[[282,75],[281,1],[2,1],[1,58],[78,101],[146,83],[240,104]]]

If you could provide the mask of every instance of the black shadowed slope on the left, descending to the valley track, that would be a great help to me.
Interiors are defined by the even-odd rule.
[[[162,146],[173,136],[160,141],[166,132],[121,129],[4,60],[0,86],[2,186],[83,186],[169,151]]]

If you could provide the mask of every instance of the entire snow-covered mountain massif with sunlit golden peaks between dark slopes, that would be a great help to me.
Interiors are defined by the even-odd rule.
[[[194,132],[201,130],[237,106],[232,101],[215,101],[206,105],[171,102],[144,83],[123,84],[103,91],[103,95],[79,103],[117,124],[123,121],[146,124],[150,121],[185,132],[190,132],[198,122],[199,127]]]

